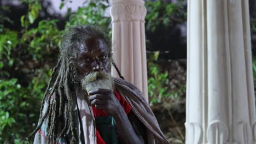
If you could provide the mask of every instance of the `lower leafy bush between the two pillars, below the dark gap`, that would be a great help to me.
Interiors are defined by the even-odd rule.
[[[147,53],[149,104],[168,140],[184,143],[186,71],[181,64],[185,62],[161,63],[159,54],[160,51]]]

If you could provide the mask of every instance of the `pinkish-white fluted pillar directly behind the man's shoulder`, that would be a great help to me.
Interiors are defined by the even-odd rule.
[[[113,0],[110,8],[114,61],[124,78],[141,89],[148,101],[146,13],[143,0]],[[113,67],[112,74],[119,77]]]

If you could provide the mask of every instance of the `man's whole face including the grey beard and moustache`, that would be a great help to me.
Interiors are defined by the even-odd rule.
[[[109,49],[101,39],[85,41],[77,57],[78,77],[84,91],[104,88],[113,90],[110,74]]]

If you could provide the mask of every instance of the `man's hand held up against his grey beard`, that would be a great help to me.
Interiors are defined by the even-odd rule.
[[[95,105],[96,109],[104,110],[106,113],[115,116],[122,108],[117,97],[115,97],[113,91],[110,89],[96,89],[89,93],[89,101],[91,105]]]

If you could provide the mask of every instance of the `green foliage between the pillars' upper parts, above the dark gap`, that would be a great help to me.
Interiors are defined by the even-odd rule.
[[[174,23],[183,23],[187,19],[184,1],[166,3],[164,1],[147,1],[145,3],[148,14],[146,15],[146,29],[154,32],[156,27],[165,26],[168,28]]]

